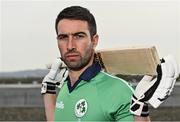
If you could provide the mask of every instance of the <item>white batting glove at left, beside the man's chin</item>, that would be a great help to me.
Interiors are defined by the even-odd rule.
[[[61,88],[67,76],[68,70],[64,62],[57,58],[42,81],[41,94],[56,94],[56,87]]]

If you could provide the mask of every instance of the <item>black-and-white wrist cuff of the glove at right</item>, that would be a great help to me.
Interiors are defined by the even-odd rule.
[[[149,116],[148,104],[137,100],[137,98],[134,95],[132,97],[130,111],[132,114],[137,116],[142,116],[142,117]]]

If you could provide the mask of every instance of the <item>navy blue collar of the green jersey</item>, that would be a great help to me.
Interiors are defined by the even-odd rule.
[[[79,79],[75,82],[73,86],[71,86],[70,78],[67,78],[67,86],[69,89],[69,93],[71,93],[76,86],[83,81],[89,82],[92,78],[94,78],[101,71],[101,66],[98,62],[93,63],[90,67],[88,67],[79,77]]]

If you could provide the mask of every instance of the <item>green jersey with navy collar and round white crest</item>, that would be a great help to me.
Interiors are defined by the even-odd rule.
[[[134,121],[129,111],[132,88],[100,71],[98,63],[87,68],[73,87],[69,79],[56,101],[55,121]]]

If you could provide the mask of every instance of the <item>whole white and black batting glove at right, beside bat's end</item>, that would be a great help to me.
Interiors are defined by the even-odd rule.
[[[134,115],[148,116],[147,103],[149,102],[157,108],[172,92],[176,78],[179,75],[174,58],[172,56],[165,57],[156,70],[156,78],[144,76],[135,89],[130,106],[130,111]]]

